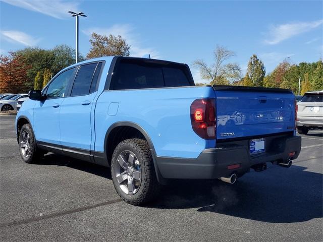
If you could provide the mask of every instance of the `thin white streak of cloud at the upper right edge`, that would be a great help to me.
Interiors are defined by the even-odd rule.
[[[308,32],[323,24],[323,19],[312,22],[297,22],[281,25],[273,25],[267,33],[266,44],[278,44],[293,36]]]

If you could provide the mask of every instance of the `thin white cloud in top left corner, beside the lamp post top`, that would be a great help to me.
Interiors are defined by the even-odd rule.
[[[1,0],[4,3],[45,14],[54,18],[68,17],[68,11],[78,12],[79,3],[62,0]]]

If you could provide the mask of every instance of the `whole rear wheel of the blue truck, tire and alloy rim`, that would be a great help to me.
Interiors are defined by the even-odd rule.
[[[117,193],[129,204],[151,201],[159,188],[149,145],[142,139],[128,139],[116,147],[111,175]]]

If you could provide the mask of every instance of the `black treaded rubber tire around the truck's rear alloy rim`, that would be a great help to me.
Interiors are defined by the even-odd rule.
[[[118,162],[119,155],[129,151],[136,156],[137,159],[135,161],[139,162],[141,170],[140,186],[138,187],[137,191],[131,195],[122,190],[116,174],[116,169],[119,169],[121,167]],[[116,147],[112,156],[111,175],[113,184],[119,196],[126,203],[136,206],[151,201],[155,197],[160,187],[156,178],[149,145],[147,141],[142,139],[124,140]],[[124,181],[127,180],[128,178],[126,178]]]

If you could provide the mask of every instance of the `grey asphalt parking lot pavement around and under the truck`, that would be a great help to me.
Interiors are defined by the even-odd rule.
[[[0,116],[0,241],[323,240],[323,131],[302,135],[289,169],[268,164],[234,185],[178,180],[136,207],[109,168],[56,154],[24,163],[14,120]]]

